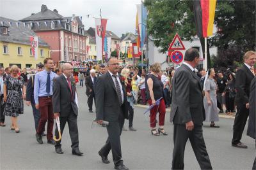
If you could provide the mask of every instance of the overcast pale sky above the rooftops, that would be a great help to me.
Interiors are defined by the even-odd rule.
[[[136,4],[141,0],[0,0],[0,16],[20,20],[38,13],[42,4],[49,10],[58,10],[63,17],[83,17],[86,29],[95,27],[94,18],[108,18],[107,30],[118,36],[135,32]],[[90,15],[88,18],[87,15]]]

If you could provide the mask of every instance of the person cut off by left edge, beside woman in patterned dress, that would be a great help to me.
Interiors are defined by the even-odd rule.
[[[0,67],[0,126],[6,126],[4,124],[5,116],[4,116],[4,67]]]

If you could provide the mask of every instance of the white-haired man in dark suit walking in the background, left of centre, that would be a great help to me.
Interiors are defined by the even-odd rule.
[[[95,85],[96,81],[97,81],[97,77],[96,77],[96,71],[95,69],[91,69],[90,70],[90,75],[86,77],[85,80],[85,86],[86,86],[86,95],[88,96],[88,107],[89,107],[89,112],[93,113],[92,111],[92,104],[93,104],[93,99],[94,99],[94,103],[95,103],[95,92],[94,92],[94,88],[93,86]]]

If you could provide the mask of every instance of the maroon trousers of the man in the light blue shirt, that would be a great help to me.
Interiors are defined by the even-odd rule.
[[[44,127],[46,122],[47,124],[47,140],[51,140],[52,129],[53,129],[53,112],[52,112],[52,98],[51,97],[39,97],[39,111],[41,117],[36,132],[42,134],[45,131]]]

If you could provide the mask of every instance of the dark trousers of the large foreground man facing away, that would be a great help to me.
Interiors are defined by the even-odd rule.
[[[186,125],[173,125],[173,156],[172,169],[184,169],[184,152],[187,141],[196,155],[196,160],[201,169],[212,169],[211,162],[206,150],[202,125],[195,125],[193,131],[186,130]]]

